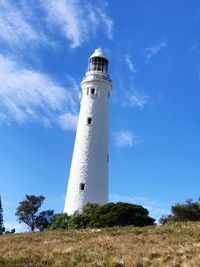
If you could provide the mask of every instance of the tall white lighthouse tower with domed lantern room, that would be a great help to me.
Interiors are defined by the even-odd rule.
[[[81,82],[82,97],[64,212],[108,202],[109,95],[108,59],[101,48],[89,58]]]

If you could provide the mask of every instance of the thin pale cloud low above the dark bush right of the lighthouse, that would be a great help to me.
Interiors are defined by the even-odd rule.
[[[109,199],[113,202],[122,201],[142,205],[144,208],[148,209],[150,215],[154,217],[157,221],[163,215],[167,215],[170,213],[170,204],[162,204],[155,199],[151,200],[141,196],[125,196],[118,194],[110,194]]]

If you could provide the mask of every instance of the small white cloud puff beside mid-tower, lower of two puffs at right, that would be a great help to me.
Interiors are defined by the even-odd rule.
[[[134,144],[139,143],[136,136],[128,130],[121,130],[115,133],[115,142],[119,148],[132,147]]]

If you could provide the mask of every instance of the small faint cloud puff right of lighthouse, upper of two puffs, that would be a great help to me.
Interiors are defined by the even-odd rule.
[[[126,93],[123,106],[143,109],[144,106],[147,104],[147,100],[148,100],[147,95],[133,88]]]

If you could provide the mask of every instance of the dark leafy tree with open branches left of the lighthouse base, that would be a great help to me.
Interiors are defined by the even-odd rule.
[[[19,203],[16,215],[19,222],[25,223],[31,231],[35,229],[44,230],[52,221],[53,211],[43,211],[38,214],[45,197],[26,195],[26,199]]]

